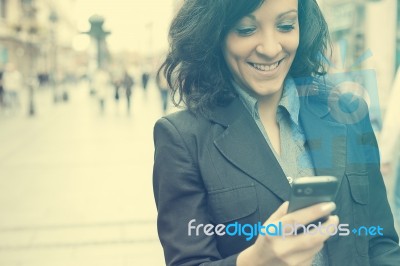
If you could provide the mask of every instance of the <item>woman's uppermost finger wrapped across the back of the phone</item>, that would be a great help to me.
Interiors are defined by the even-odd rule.
[[[310,207],[288,213],[282,217],[283,224],[304,224],[307,225],[322,217],[329,216],[330,213],[336,209],[334,202],[323,202],[312,205]]]

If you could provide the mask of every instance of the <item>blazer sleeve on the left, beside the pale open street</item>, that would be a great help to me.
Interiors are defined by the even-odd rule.
[[[154,127],[153,190],[157,205],[157,229],[167,265],[236,265],[236,255],[222,258],[214,237],[189,235],[188,223],[208,224],[207,192],[196,160],[195,147],[168,118]],[[192,145],[194,146],[194,145]],[[190,151],[190,148],[192,151]]]

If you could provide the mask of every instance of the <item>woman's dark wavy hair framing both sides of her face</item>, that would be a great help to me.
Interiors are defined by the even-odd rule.
[[[228,32],[264,0],[185,0],[169,31],[170,50],[158,70],[167,78],[176,106],[207,112],[236,97],[222,51]],[[300,43],[289,74],[326,73],[321,61],[329,43],[328,27],[316,0],[298,1]]]

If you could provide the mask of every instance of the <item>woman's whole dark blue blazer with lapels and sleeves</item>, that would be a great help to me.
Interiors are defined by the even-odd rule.
[[[367,109],[361,101],[354,110],[354,102],[342,100],[335,106],[333,98],[301,97],[300,122],[315,172],[339,179],[334,214],[340,223],[350,229],[379,225],[384,236],[331,237],[330,265],[400,265],[377,143],[368,115],[360,114]],[[186,110],[161,118],[154,141],[154,196],[166,264],[236,265],[255,238],[188,236],[188,223],[264,223],[289,200],[291,187],[255,121],[235,99],[207,117]]]

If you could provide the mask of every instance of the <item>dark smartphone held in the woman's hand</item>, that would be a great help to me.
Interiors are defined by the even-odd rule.
[[[334,201],[338,187],[338,180],[334,176],[298,177],[292,183],[288,212],[321,202]],[[327,217],[322,217],[312,224],[324,222],[326,219]]]

